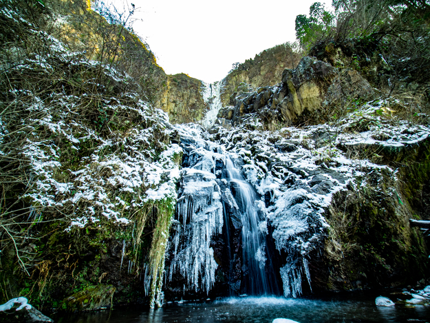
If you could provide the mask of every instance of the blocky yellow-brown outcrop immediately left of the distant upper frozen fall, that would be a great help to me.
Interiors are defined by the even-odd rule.
[[[202,81],[186,74],[167,75],[156,106],[169,114],[171,123],[201,121],[207,110],[202,86]]]

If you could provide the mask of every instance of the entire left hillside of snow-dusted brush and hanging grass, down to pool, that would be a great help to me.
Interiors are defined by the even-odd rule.
[[[69,5],[80,42],[52,37],[65,31],[55,6],[1,1],[0,302],[58,309],[98,284],[130,301],[144,298],[146,267],[149,282],[162,280],[177,180],[162,169],[177,169],[180,151],[148,103],[154,74],[127,74],[155,60],[129,15],[108,23],[86,1]],[[123,59],[133,53],[152,59]],[[164,198],[151,202],[160,185]]]

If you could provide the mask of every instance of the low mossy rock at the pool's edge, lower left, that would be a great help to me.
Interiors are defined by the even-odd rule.
[[[89,286],[83,291],[74,293],[61,302],[64,311],[96,311],[102,307],[110,307],[116,288],[112,285]]]

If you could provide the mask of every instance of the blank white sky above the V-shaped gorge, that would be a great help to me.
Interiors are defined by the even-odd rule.
[[[122,8],[121,0],[109,1]],[[124,1],[135,4],[133,29],[167,74],[212,83],[224,79],[233,63],[294,41],[296,16],[309,14],[316,0]]]

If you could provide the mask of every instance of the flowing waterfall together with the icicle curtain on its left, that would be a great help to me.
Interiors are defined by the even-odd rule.
[[[207,294],[221,266],[226,284],[239,285],[230,289],[233,295],[279,294],[275,270],[268,260],[268,227],[261,211],[264,202],[224,147],[181,127],[185,154],[171,231],[169,282],[184,293]],[[230,228],[232,216],[237,219],[235,228]],[[235,231],[236,239],[230,231]],[[219,247],[220,240],[224,247]],[[235,276],[240,276],[239,282]]]

